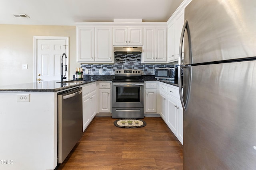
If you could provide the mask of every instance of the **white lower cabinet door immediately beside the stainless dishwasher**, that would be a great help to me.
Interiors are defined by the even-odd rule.
[[[83,96],[83,131],[90,123],[90,94]]]

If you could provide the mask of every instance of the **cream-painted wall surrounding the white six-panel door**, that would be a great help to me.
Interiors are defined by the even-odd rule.
[[[69,37],[69,68],[72,78],[76,63],[76,27],[0,24],[0,86],[34,82],[33,36]],[[28,64],[28,69],[22,69]]]

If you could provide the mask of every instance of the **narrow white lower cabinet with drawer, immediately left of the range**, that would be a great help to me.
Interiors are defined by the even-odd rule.
[[[99,113],[111,113],[111,83],[99,83]]]

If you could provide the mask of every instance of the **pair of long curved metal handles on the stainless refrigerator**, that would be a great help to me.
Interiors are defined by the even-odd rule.
[[[189,63],[188,64],[181,64],[181,58],[182,58],[182,46],[183,46],[183,40],[184,40],[184,34],[185,34],[185,30],[187,30],[188,33],[188,49],[189,49]],[[191,67],[190,64],[192,63],[192,49],[191,49],[191,37],[190,37],[190,29],[188,26],[188,20],[185,20],[183,28],[182,28],[182,32],[181,32],[181,36],[180,36],[180,49],[179,49],[179,59],[178,59],[178,85],[179,85],[179,94],[180,94],[180,102],[181,105],[183,107],[183,110],[186,111],[186,104],[184,103],[184,98],[183,98],[183,94],[182,94],[182,87],[181,87],[181,67],[189,67],[189,80],[188,80],[188,92],[186,93],[186,99],[189,98],[189,94],[190,94],[190,79],[191,79]]]

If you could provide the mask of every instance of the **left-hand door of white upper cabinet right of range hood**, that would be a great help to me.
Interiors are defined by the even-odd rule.
[[[144,28],[142,63],[155,61],[155,28]]]

